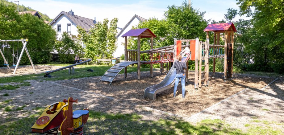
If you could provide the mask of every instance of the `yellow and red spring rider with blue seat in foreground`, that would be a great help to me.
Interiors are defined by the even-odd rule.
[[[69,97],[68,100],[49,105],[31,127],[31,133],[57,134],[59,130],[61,135],[82,135],[83,125],[89,117],[89,109],[73,112],[73,102],[77,103],[78,99],[73,100],[73,97]]]

